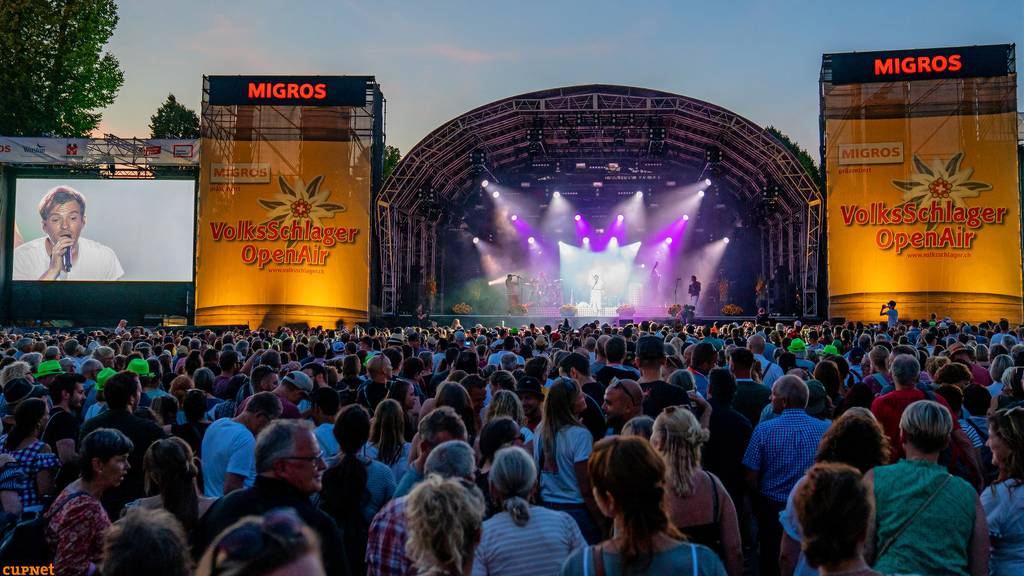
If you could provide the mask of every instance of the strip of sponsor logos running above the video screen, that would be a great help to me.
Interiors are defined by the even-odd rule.
[[[199,140],[131,139],[108,154],[103,139],[0,136],[0,164],[106,164],[132,158],[154,166],[189,166],[199,162]]]

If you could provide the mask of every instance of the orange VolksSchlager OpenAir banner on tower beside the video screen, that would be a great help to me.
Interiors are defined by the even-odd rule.
[[[345,141],[204,140],[200,191],[198,324],[367,320],[365,154]]]

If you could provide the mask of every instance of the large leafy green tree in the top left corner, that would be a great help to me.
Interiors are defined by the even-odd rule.
[[[0,134],[86,136],[124,83],[114,0],[0,1]]]

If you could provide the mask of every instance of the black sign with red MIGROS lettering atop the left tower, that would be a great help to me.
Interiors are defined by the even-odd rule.
[[[371,76],[210,76],[211,106],[367,106]]]

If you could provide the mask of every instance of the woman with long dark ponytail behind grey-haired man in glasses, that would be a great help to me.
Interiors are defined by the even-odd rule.
[[[342,529],[351,573],[365,574],[370,523],[394,496],[396,483],[386,464],[360,455],[370,438],[370,414],[361,405],[338,413],[334,438],[341,452],[338,463],[324,472],[319,506]]]

